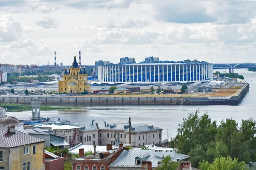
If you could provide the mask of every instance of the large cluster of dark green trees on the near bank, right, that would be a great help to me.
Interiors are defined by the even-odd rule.
[[[217,124],[207,113],[198,114],[195,111],[183,118],[177,136],[170,142],[179,153],[189,154],[194,167],[204,161],[212,163],[221,156],[245,163],[256,161],[256,122],[252,118],[242,120],[239,126],[233,119]]]

